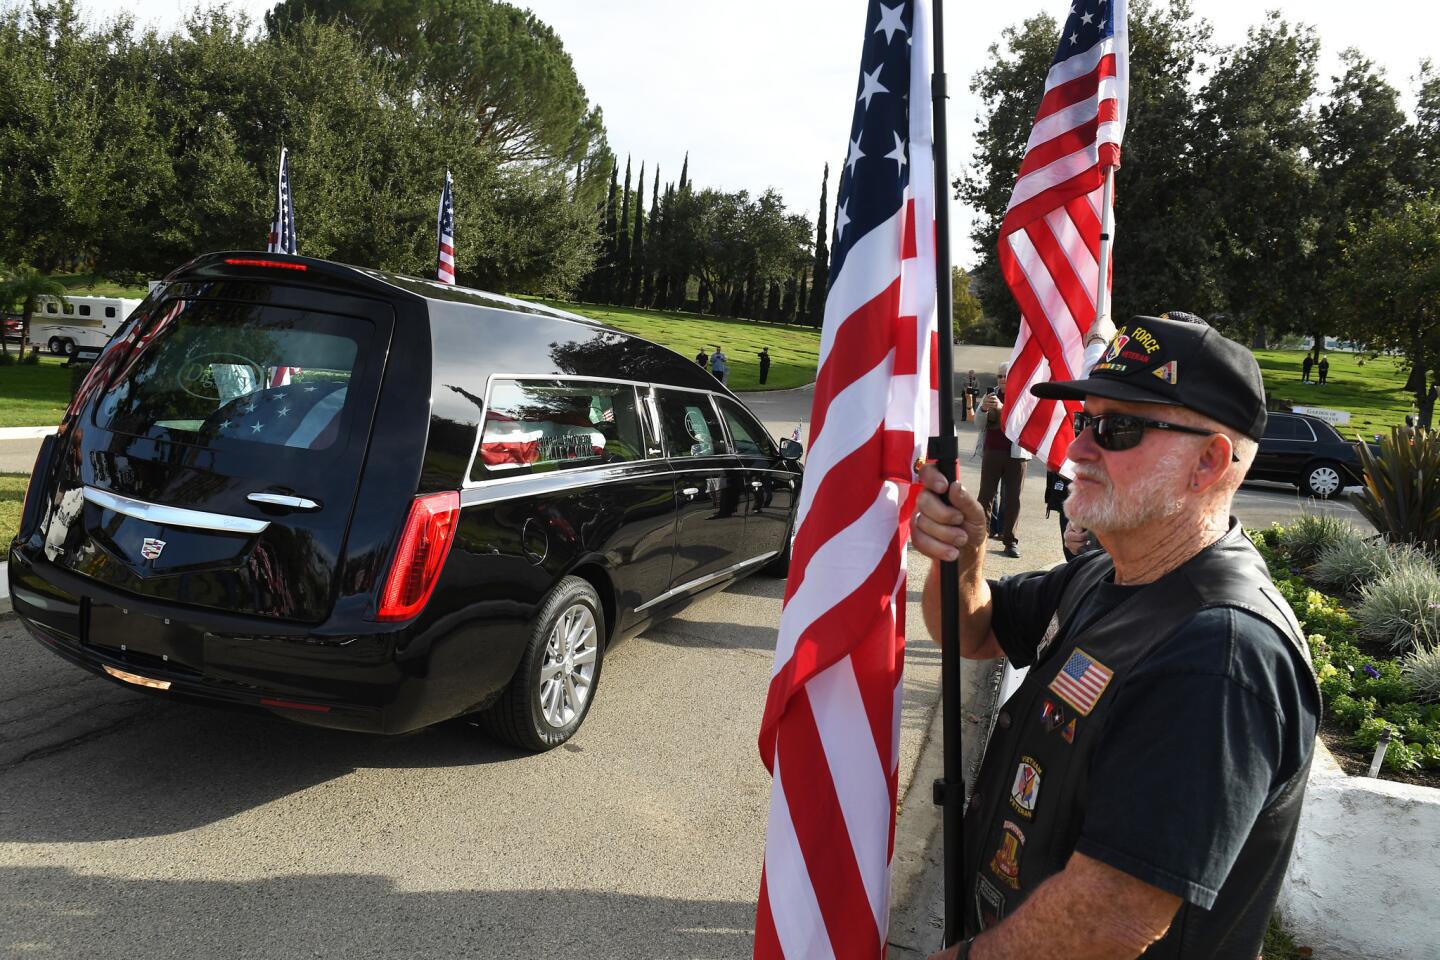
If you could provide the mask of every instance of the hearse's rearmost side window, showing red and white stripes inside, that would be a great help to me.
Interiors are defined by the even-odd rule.
[[[505,476],[645,456],[635,387],[586,380],[495,380],[475,474]]]

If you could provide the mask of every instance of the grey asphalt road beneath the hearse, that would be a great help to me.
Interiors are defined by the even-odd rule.
[[[809,391],[752,406],[788,436]],[[1060,561],[1041,491],[1037,465],[1024,558],[992,550],[989,573]],[[1237,504],[1250,525],[1299,510],[1283,488]],[[912,599],[927,567],[912,557]],[[539,756],[464,721],[379,738],[150,698],[0,617],[0,956],[749,957],[782,586],[752,577],[618,645],[582,731]],[[939,697],[916,604],[909,635],[901,792]],[[923,956],[926,904],[896,911],[919,917],[896,954]]]

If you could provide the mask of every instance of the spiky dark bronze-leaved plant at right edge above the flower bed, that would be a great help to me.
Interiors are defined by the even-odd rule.
[[[1361,443],[1365,489],[1351,495],[1375,530],[1395,543],[1440,550],[1440,438],[1430,430],[1391,427],[1380,453]]]

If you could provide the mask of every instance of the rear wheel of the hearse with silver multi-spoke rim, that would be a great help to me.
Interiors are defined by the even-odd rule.
[[[540,604],[510,687],[481,714],[485,730],[536,751],[573,737],[595,702],[605,639],[605,609],[595,587],[580,577],[560,580]]]

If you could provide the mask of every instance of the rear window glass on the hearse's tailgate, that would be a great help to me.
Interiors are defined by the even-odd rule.
[[[340,436],[369,321],[220,301],[174,301],[95,412],[96,426],[202,446],[318,450]]]

